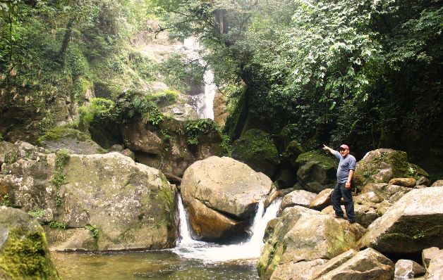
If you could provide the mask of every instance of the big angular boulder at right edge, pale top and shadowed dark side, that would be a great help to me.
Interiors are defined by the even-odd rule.
[[[413,189],[372,222],[360,247],[387,254],[419,254],[443,247],[443,187]]]

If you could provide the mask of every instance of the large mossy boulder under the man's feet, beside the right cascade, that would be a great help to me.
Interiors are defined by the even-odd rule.
[[[281,273],[279,267],[289,262],[330,260],[355,248],[358,236],[351,224],[343,222],[346,224],[301,206],[286,208],[272,222],[272,229],[267,229],[267,240],[257,263],[260,279],[273,279],[274,270]]]

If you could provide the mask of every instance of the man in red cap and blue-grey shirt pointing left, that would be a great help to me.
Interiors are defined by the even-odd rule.
[[[344,218],[344,212],[340,207],[341,197],[344,199],[344,208],[348,221],[356,222],[356,212],[354,212],[354,202],[352,200],[351,182],[356,170],[356,158],[349,154],[348,145],[341,145],[339,152],[329,148],[323,144],[323,150],[329,151],[339,160],[339,168],[337,169],[337,184],[331,194],[332,208],[335,211],[336,218]]]

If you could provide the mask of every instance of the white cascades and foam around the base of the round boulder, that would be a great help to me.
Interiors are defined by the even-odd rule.
[[[253,221],[253,235],[249,241],[231,245],[220,245],[210,242],[195,241],[190,237],[186,211],[183,208],[181,197],[179,197],[178,207],[181,219],[181,241],[173,251],[183,257],[203,260],[205,262],[225,262],[229,260],[254,259],[260,257],[260,249],[264,245],[262,239],[265,235],[267,223],[274,217],[277,217],[280,203],[281,198],[275,200],[269,205],[266,212],[263,213],[265,207],[263,202],[260,201]]]

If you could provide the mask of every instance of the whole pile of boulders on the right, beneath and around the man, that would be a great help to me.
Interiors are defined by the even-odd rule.
[[[260,279],[443,279],[443,186],[429,187],[420,167],[394,163],[403,155],[381,149],[358,163],[364,186],[354,197],[356,224],[334,218],[332,189],[284,196],[280,217],[267,226]],[[415,262],[420,254],[422,265]]]

